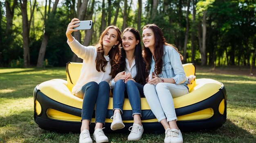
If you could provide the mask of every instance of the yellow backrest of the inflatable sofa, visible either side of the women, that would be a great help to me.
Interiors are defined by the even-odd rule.
[[[81,74],[82,63],[72,63],[68,62],[66,65],[66,75],[67,75],[67,87],[70,91],[76,84],[80,74]],[[195,65],[192,63],[183,64],[186,76],[191,74],[195,75]],[[189,86],[189,91],[195,86],[195,81]]]

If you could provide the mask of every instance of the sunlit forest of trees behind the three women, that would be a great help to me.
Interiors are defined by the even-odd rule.
[[[110,24],[142,33],[155,23],[183,63],[255,67],[255,0],[0,0],[0,67],[81,62],[65,36],[74,17],[94,22],[91,30],[73,33],[85,46]]]

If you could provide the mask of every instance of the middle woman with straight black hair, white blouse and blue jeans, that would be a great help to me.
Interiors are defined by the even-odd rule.
[[[147,73],[142,57],[141,39],[138,30],[126,28],[122,34],[122,48],[119,73],[111,82],[113,90],[113,119],[112,130],[124,128],[121,114],[123,113],[124,98],[128,96],[134,124],[128,136],[129,141],[141,139],[143,127],[141,124],[141,97],[143,86],[146,84]]]

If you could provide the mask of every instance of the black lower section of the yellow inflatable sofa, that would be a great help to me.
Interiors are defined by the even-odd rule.
[[[225,99],[225,111],[224,111],[224,115],[221,115],[218,111],[218,106],[223,99]],[[35,102],[36,100],[40,103],[42,108],[40,115],[36,115],[36,102]],[[81,109],[75,108],[72,106],[67,106],[60,102],[54,101],[51,98],[47,97],[45,94],[43,94],[40,90],[35,88],[34,89],[34,120],[36,124],[39,125],[40,128],[45,130],[54,130],[57,132],[80,132],[81,122],[60,121],[60,120],[50,119],[46,115],[46,111],[48,108],[52,108],[57,111],[61,111],[64,113],[81,117]],[[220,91],[212,95],[210,98],[207,98],[206,100],[203,100],[201,102],[198,102],[190,106],[177,108],[175,109],[175,111],[177,116],[181,116],[181,115],[186,115],[196,111],[200,111],[206,108],[213,108],[214,115],[211,118],[203,119],[203,120],[193,120],[193,121],[177,121],[177,125],[179,126],[180,130],[194,131],[194,130],[220,128],[222,124],[225,123],[227,118],[227,95],[226,95],[225,87],[220,89]],[[131,115],[132,115],[132,111],[124,111],[122,118],[123,120],[133,120]],[[112,116],[112,110],[108,110],[107,118],[109,119],[111,116]],[[95,114],[93,114],[92,117],[94,118]],[[153,115],[151,110],[144,110],[142,111],[141,119],[142,120],[155,119],[155,116]],[[132,126],[132,123],[124,123],[124,124],[125,124],[125,128],[121,130],[113,131],[110,129],[111,123],[106,123],[104,126],[105,127],[104,132],[112,132],[112,133],[129,132],[128,128]],[[144,127],[144,132],[164,132],[164,128],[159,122],[142,123],[142,124]],[[93,132],[94,126],[95,126],[94,123],[90,124],[90,132]]]

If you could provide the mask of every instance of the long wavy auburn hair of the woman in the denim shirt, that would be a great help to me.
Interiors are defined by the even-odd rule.
[[[142,30],[146,29],[146,28],[150,28],[153,33],[154,33],[154,37],[155,37],[155,45],[154,45],[154,56],[155,56],[155,74],[159,75],[162,73],[162,67],[163,67],[163,56],[164,56],[164,45],[170,45],[171,47],[175,48],[175,50],[177,50],[177,52],[180,54],[180,52],[178,51],[178,49],[174,46],[171,45],[169,43],[166,43],[165,38],[164,38],[164,34],[162,32],[162,30],[155,24],[148,24],[146,26],[143,27]],[[146,63],[146,70],[149,71],[150,70],[150,64],[152,62],[151,58],[152,58],[152,53],[150,52],[149,48],[145,47],[144,43],[143,43],[143,57],[144,57],[144,61]],[[183,60],[183,56],[180,54],[180,60]]]

